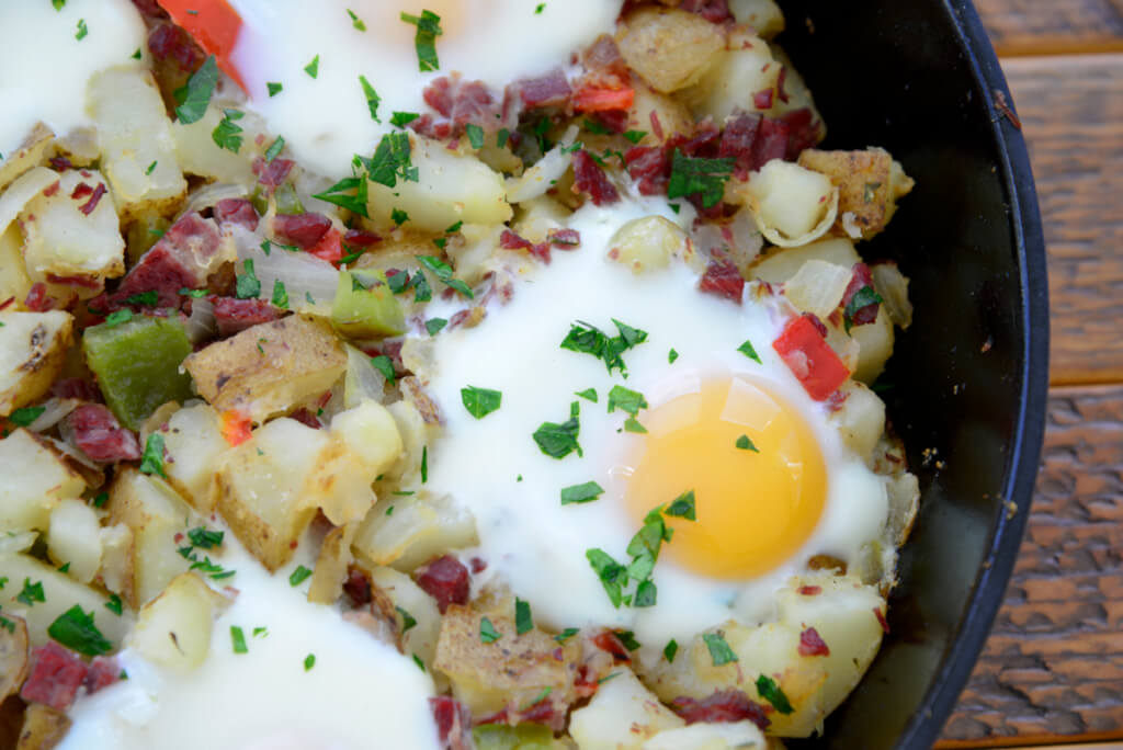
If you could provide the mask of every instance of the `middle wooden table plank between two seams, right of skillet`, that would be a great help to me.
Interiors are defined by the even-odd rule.
[[[1123,382],[1123,54],[1014,58],[1003,67],[1046,227],[1051,379]]]

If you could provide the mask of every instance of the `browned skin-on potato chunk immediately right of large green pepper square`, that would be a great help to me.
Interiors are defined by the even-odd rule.
[[[212,344],[183,366],[212,406],[262,423],[330,390],[347,367],[347,353],[331,326],[292,315]]]

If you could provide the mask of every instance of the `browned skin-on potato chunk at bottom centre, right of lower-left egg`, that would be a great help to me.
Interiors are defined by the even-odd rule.
[[[510,598],[477,606],[481,603],[448,607],[432,665],[448,676],[454,695],[472,714],[483,716],[508,707],[515,712],[520,706],[544,699],[547,688],[548,699],[557,707],[564,710],[572,703],[573,676],[581,652],[576,639],[558,647],[557,641],[537,628],[517,635],[514,603]],[[485,616],[499,633],[491,643],[484,643],[481,637],[487,630],[482,625]],[[563,655],[556,658],[559,648]]]

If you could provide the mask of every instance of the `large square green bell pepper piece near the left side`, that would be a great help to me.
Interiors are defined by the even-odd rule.
[[[193,395],[191,376],[180,373],[191,341],[177,320],[134,315],[116,326],[91,326],[82,335],[82,351],[106,404],[129,429],[138,429],[161,404]]]

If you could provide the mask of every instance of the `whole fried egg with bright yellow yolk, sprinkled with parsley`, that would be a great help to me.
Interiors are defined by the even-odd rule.
[[[764,622],[770,594],[809,558],[853,561],[885,525],[884,478],[843,445],[829,408],[772,348],[785,320],[778,303],[702,294],[684,263],[636,274],[609,257],[626,222],[659,214],[688,226],[687,213],[650,199],[586,204],[568,222],[578,249],[523,268],[509,304],[435,345],[429,388],[446,424],[426,487],[475,515],[480,547],[465,556],[489,566],[477,585],[509,585],[545,626],[628,629],[661,649],[730,619]],[[647,339],[623,353],[626,374],[609,373],[559,346],[577,321],[609,335],[620,321]],[[468,386],[500,391],[501,408],[476,419],[462,404]],[[636,419],[646,433],[610,411],[614,386],[643,395]],[[570,404],[582,455],[553,458],[532,435],[567,420]],[[604,492],[562,504],[564,487],[587,482]],[[696,520],[665,515],[673,536],[652,574],[656,603],[614,606],[588,550],[627,565],[647,514],[687,492]]]

